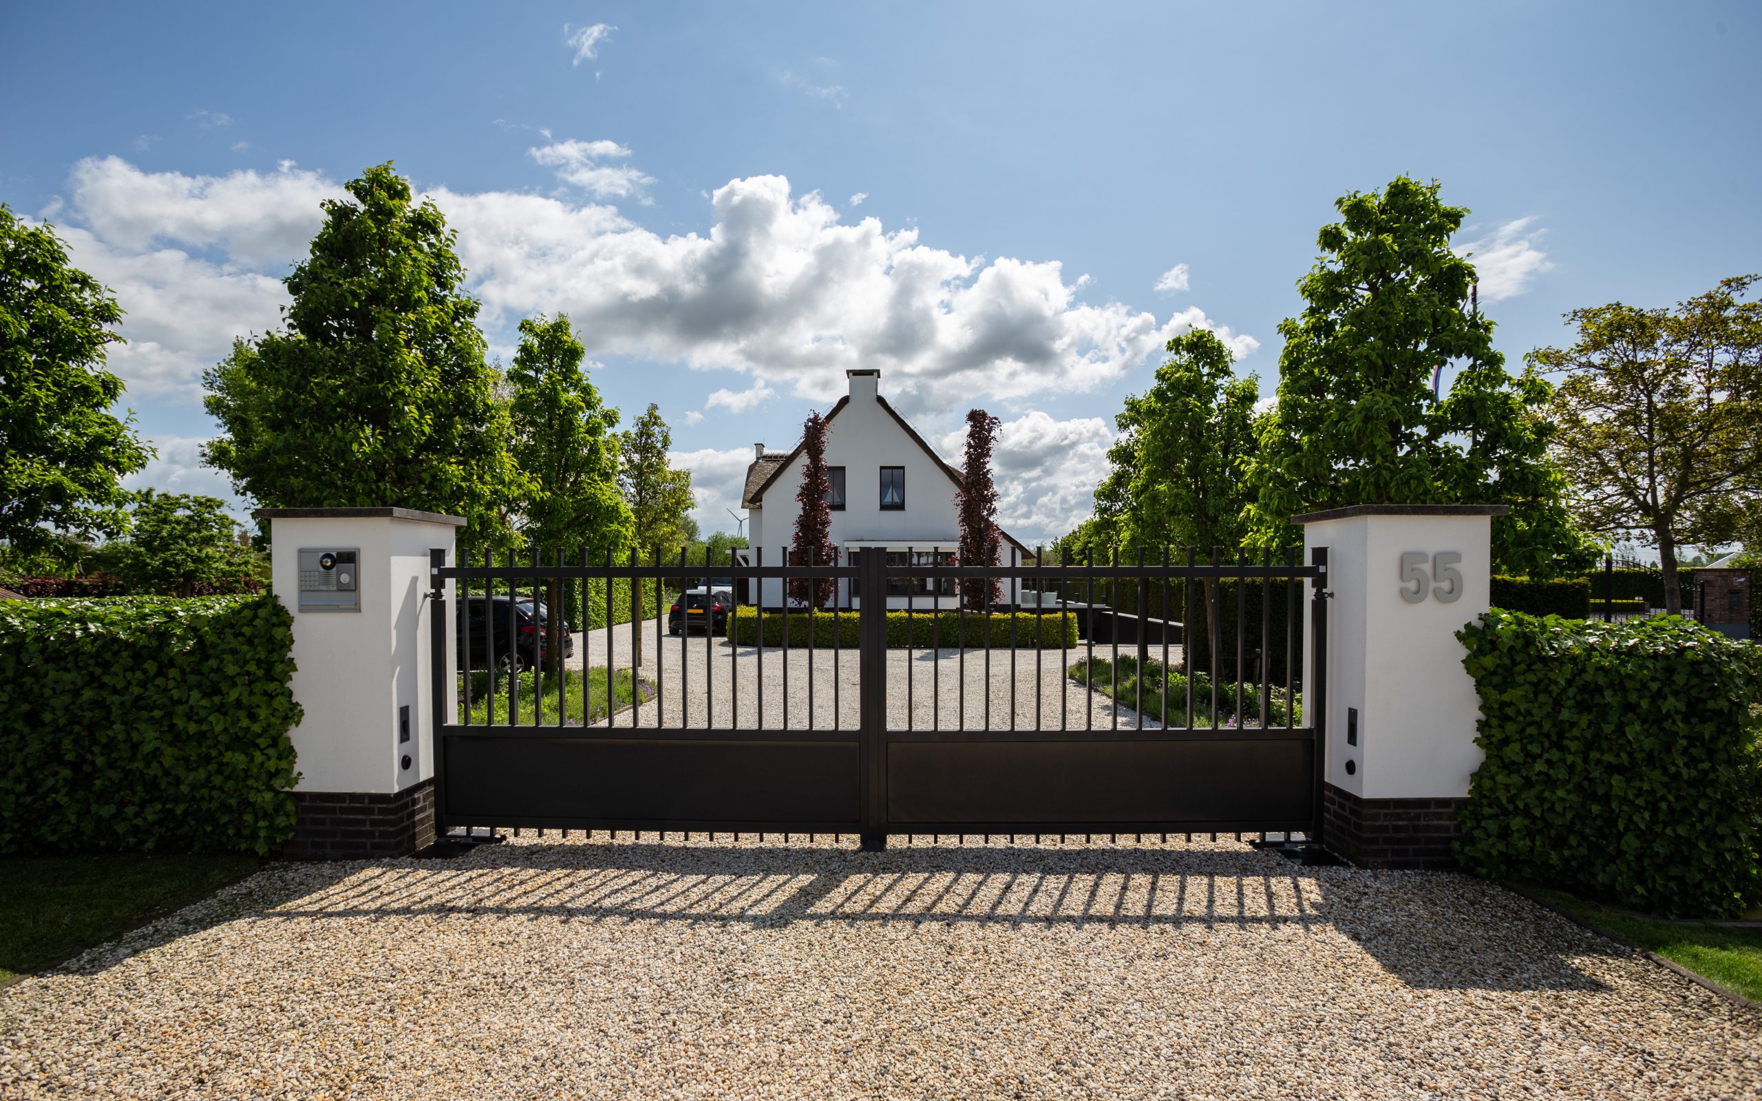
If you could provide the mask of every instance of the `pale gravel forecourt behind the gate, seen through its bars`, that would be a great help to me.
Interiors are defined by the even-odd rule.
[[[629,627],[617,627],[611,638],[611,662],[631,664]],[[846,729],[858,726],[856,650],[789,650],[766,647],[735,647],[726,638],[703,634],[655,638],[652,625],[643,632],[641,673],[659,680],[659,701],[638,708],[636,724],[654,726],[657,715],[664,726],[768,726]],[[1129,650],[1121,650],[1129,654]],[[608,643],[604,631],[592,631],[583,639],[576,636],[576,657],[590,666],[606,664]],[[1170,647],[1173,661],[1181,648]],[[1085,650],[888,650],[888,726],[902,729],[909,722],[918,729],[1004,729],[1011,717],[1017,728],[1034,729],[1036,712],[1043,728],[1070,729],[1085,724],[1098,728],[1115,722],[1135,726],[1138,715],[1128,706],[1115,708],[1099,694],[1064,676],[1066,662],[1080,661]],[[1112,655],[1110,648],[1096,648],[1096,655]],[[1161,648],[1158,648],[1161,657]],[[988,664],[987,664],[988,659]],[[1013,661],[1013,664],[1011,664]],[[708,675],[707,675],[708,671]],[[763,676],[761,676],[763,671]],[[812,675],[812,676],[811,676]],[[812,680],[812,685],[809,684]],[[689,685],[689,691],[682,691]],[[1015,692],[1011,696],[1011,685]],[[763,687],[763,692],[761,692]],[[837,691],[833,691],[837,687]],[[763,712],[759,703],[763,696]],[[988,708],[988,710],[987,710]],[[620,726],[631,722],[626,712],[617,717]],[[1156,728],[1156,719],[1145,717],[1145,728]]]

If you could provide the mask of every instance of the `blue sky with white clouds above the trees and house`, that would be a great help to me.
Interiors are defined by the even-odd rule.
[[[1612,299],[1762,266],[1762,9],[1688,5],[11,5],[0,201],[129,319],[160,447],[224,491],[199,373],[275,322],[317,201],[395,160],[460,231],[485,331],[567,310],[731,527],[752,442],[842,370],[951,451],[1006,421],[1006,525],[1087,513],[1161,340],[1270,395],[1348,188],[1438,178],[1510,365]],[[862,196],[858,199],[858,196]],[[1175,275],[1168,275],[1168,273]],[[1159,287],[1161,284],[1161,287]]]

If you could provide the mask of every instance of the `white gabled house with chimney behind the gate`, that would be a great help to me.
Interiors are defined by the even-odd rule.
[[[851,391],[826,414],[826,467],[832,474],[832,543],[840,565],[855,565],[860,555],[881,553],[897,565],[953,564],[960,550],[960,518],[955,491],[960,472],[950,467],[906,417],[893,412],[879,393],[879,370],[848,370]],[[793,451],[765,451],[754,444],[752,465],[740,504],[747,509],[747,564],[782,565],[800,504],[802,444]],[[759,550],[763,548],[763,560]],[[1033,553],[1003,532],[997,564],[1033,562]],[[953,578],[941,580],[932,592],[930,578],[895,578],[888,585],[888,608],[957,608]],[[1003,581],[1003,606],[1015,602],[1017,585]],[[860,608],[863,592],[848,592],[839,583],[839,601]],[[1033,597],[1033,594],[1029,594]],[[846,602],[848,601],[848,602]],[[782,581],[765,580],[758,604],[782,604]],[[999,606],[999,611],[1003,610]]]

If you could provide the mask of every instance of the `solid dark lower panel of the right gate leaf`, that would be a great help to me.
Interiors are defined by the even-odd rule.
[[[1314,823],[1311,731],[888,735],[888,828],[1290,831]]]

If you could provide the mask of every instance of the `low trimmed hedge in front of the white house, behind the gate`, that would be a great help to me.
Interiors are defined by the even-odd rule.
[[[855,650],[862,645],[858,634],[858,613],[844,611],[837,617],[830,611],[791,611],[789,620],[789,645],[791,647],[832,647],[839,645],[848,650]],[[1017,613],[992,613],[988,620],[992,647],[1010,647],[1017,645],[1027,650],[1059,650],[1059,648],[1077,648],[1077,617],[1066,615],[1034,615],[1029,611]],[[782,611],[763,613],[765,645],[781,647],[784,636],[784,615]],[[728,638],[737,645],[752,647],[758,645],[759,638],[759,610],[758,608],[737,608],[735,615],[728,617]],[[985,647],[987,645],[987,617],[976,611],[969,611],[962,617],[959,611],[918,611],[906,615],[904,611],[886,613],[886,645],[888,647],[906,647],[909,645],[930,648],[930,647]]]

